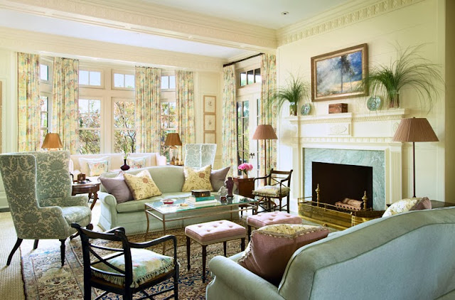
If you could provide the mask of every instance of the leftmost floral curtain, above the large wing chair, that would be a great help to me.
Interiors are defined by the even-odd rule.
[[[18,53],[18,151],[40,149],[39,55]]]

